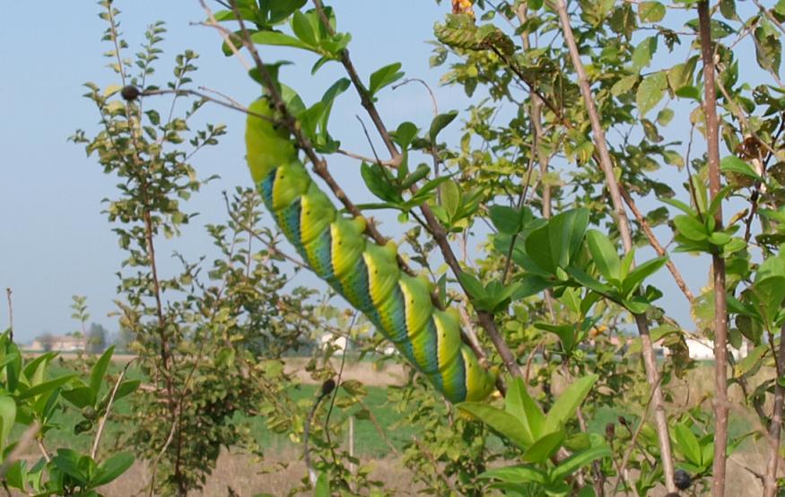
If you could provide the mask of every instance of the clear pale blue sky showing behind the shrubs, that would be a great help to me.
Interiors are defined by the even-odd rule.
[[[176,53],[192,48],[201,55],[196,85],[221,91],[240,102],[257,96],[257,85],[244,74],[237,60],[223,57],[217,33],[191,24],[204,18],[196,0],[116,4],[123,11],[121,30],[131,47],[129,55],[142,43],[147,24],[159,19],[166,22],[169,32],[162,46],[165,53],[158,65],[158,83],[170,79]],[[432,85],[441,111],[467,108],[470,100],[462,90],[439,86],[444,67],[428,66],[431,47],[426,40],[432,39],[433,22],[443,18],[449,2],[336,0],[334,4],[339,29],[353,34],[350,48],[364,78],[382,65],[400,61],[407,76]],[[82,146],[66,142],[76,128],[86,129],[89,135],[98,129],[98,113],[92,102],[82,97],[82,84],[92,81],[103,87],[116,83],[114,74],[105,67],[108,59],[101,55],[108,47],[100,42],[106,27],[97,15],[100,8],[85,1],[46,0],[37,5],[42,14],[35,22],[16,18],[0,31],[0,64],[4,67],[0,77],[0,146],[4,151],[0,163],[0,289],[13,289],[14,327],[22,340],[43,332],[75,330],[77,324],[68,309],[73,294],[88,297],[93,321],[116,329],[116,320],[108,314],[114,310],[115,273],[123,257],[109,222],[100,214],[101,199],[116,195],[115,180],[102,173],[94,158],[85,157]],[[660,48],[659,57],[667,63],[664,48]],[[317,78],[311,77],[314,58],[292,50],[275,52],[270,60],[275,58],[297,63],[284,69],[283,80],[301,92],[306,101],[320,97],[328,83],[343,76],[337,65],[327,65]],[[745,64],[754,65],[754,57],[749,58],[752,61]],[[370,155],[354,117],[360,114],[367,122],[358,104],[355,93],[345,93],[334,111],[332,133],[345,148]],[[427,127],[432,118],[431,100],[419,84],[394,92],[386,90],[380,97],[379,110],[390,123],[412,120]],[[200,153],[193,161],[203,177],[219,174],[221,179],[202,190],[189,205],[191,211],[201,214],[186,228],[183,239],[161,243],[158,251],[164,271],[176,267],[170,259],[173,249],[188,257],[210,253],[210,241],[202,226],[225,220],[221,191],[249,185],[241,133],[244,117],[217,106],[208,106],[200,113],[205,121],[228,126],[228,135],[222,137],[219,146]],[[684,117],[685,111],[676,108],[676,114],[677,118]],[[676,126],[670,133],[685,139],[688,129],[686,125]],[[452,136],[456,137],[458,126],[454,124],[453,130]],[[693,148],[693,154],[701,151],[701,144]],[[355,201],[371,199],[362,187],[355,161],[336,156],[330,165]],[[674,170],[664,175],[678,191],[681,175]],[[653,207],[646,202],[644,205]],[[389,222],[386,228],[389,232],[397,230]],[[662,240],[669,240],[669,230],[658,232]],[[644,250],[642,257],[650,255]],[[697,292],[705,281],[705,261],[689,256],[676,260]],[[314,283],[307,276],[298,278],[302,278],[300,283]],[[661,304],[687,324],[685,301],[665,270],[656,283],[666,290]],[[7,314],[3,302],[0,328],[7,325]]]

